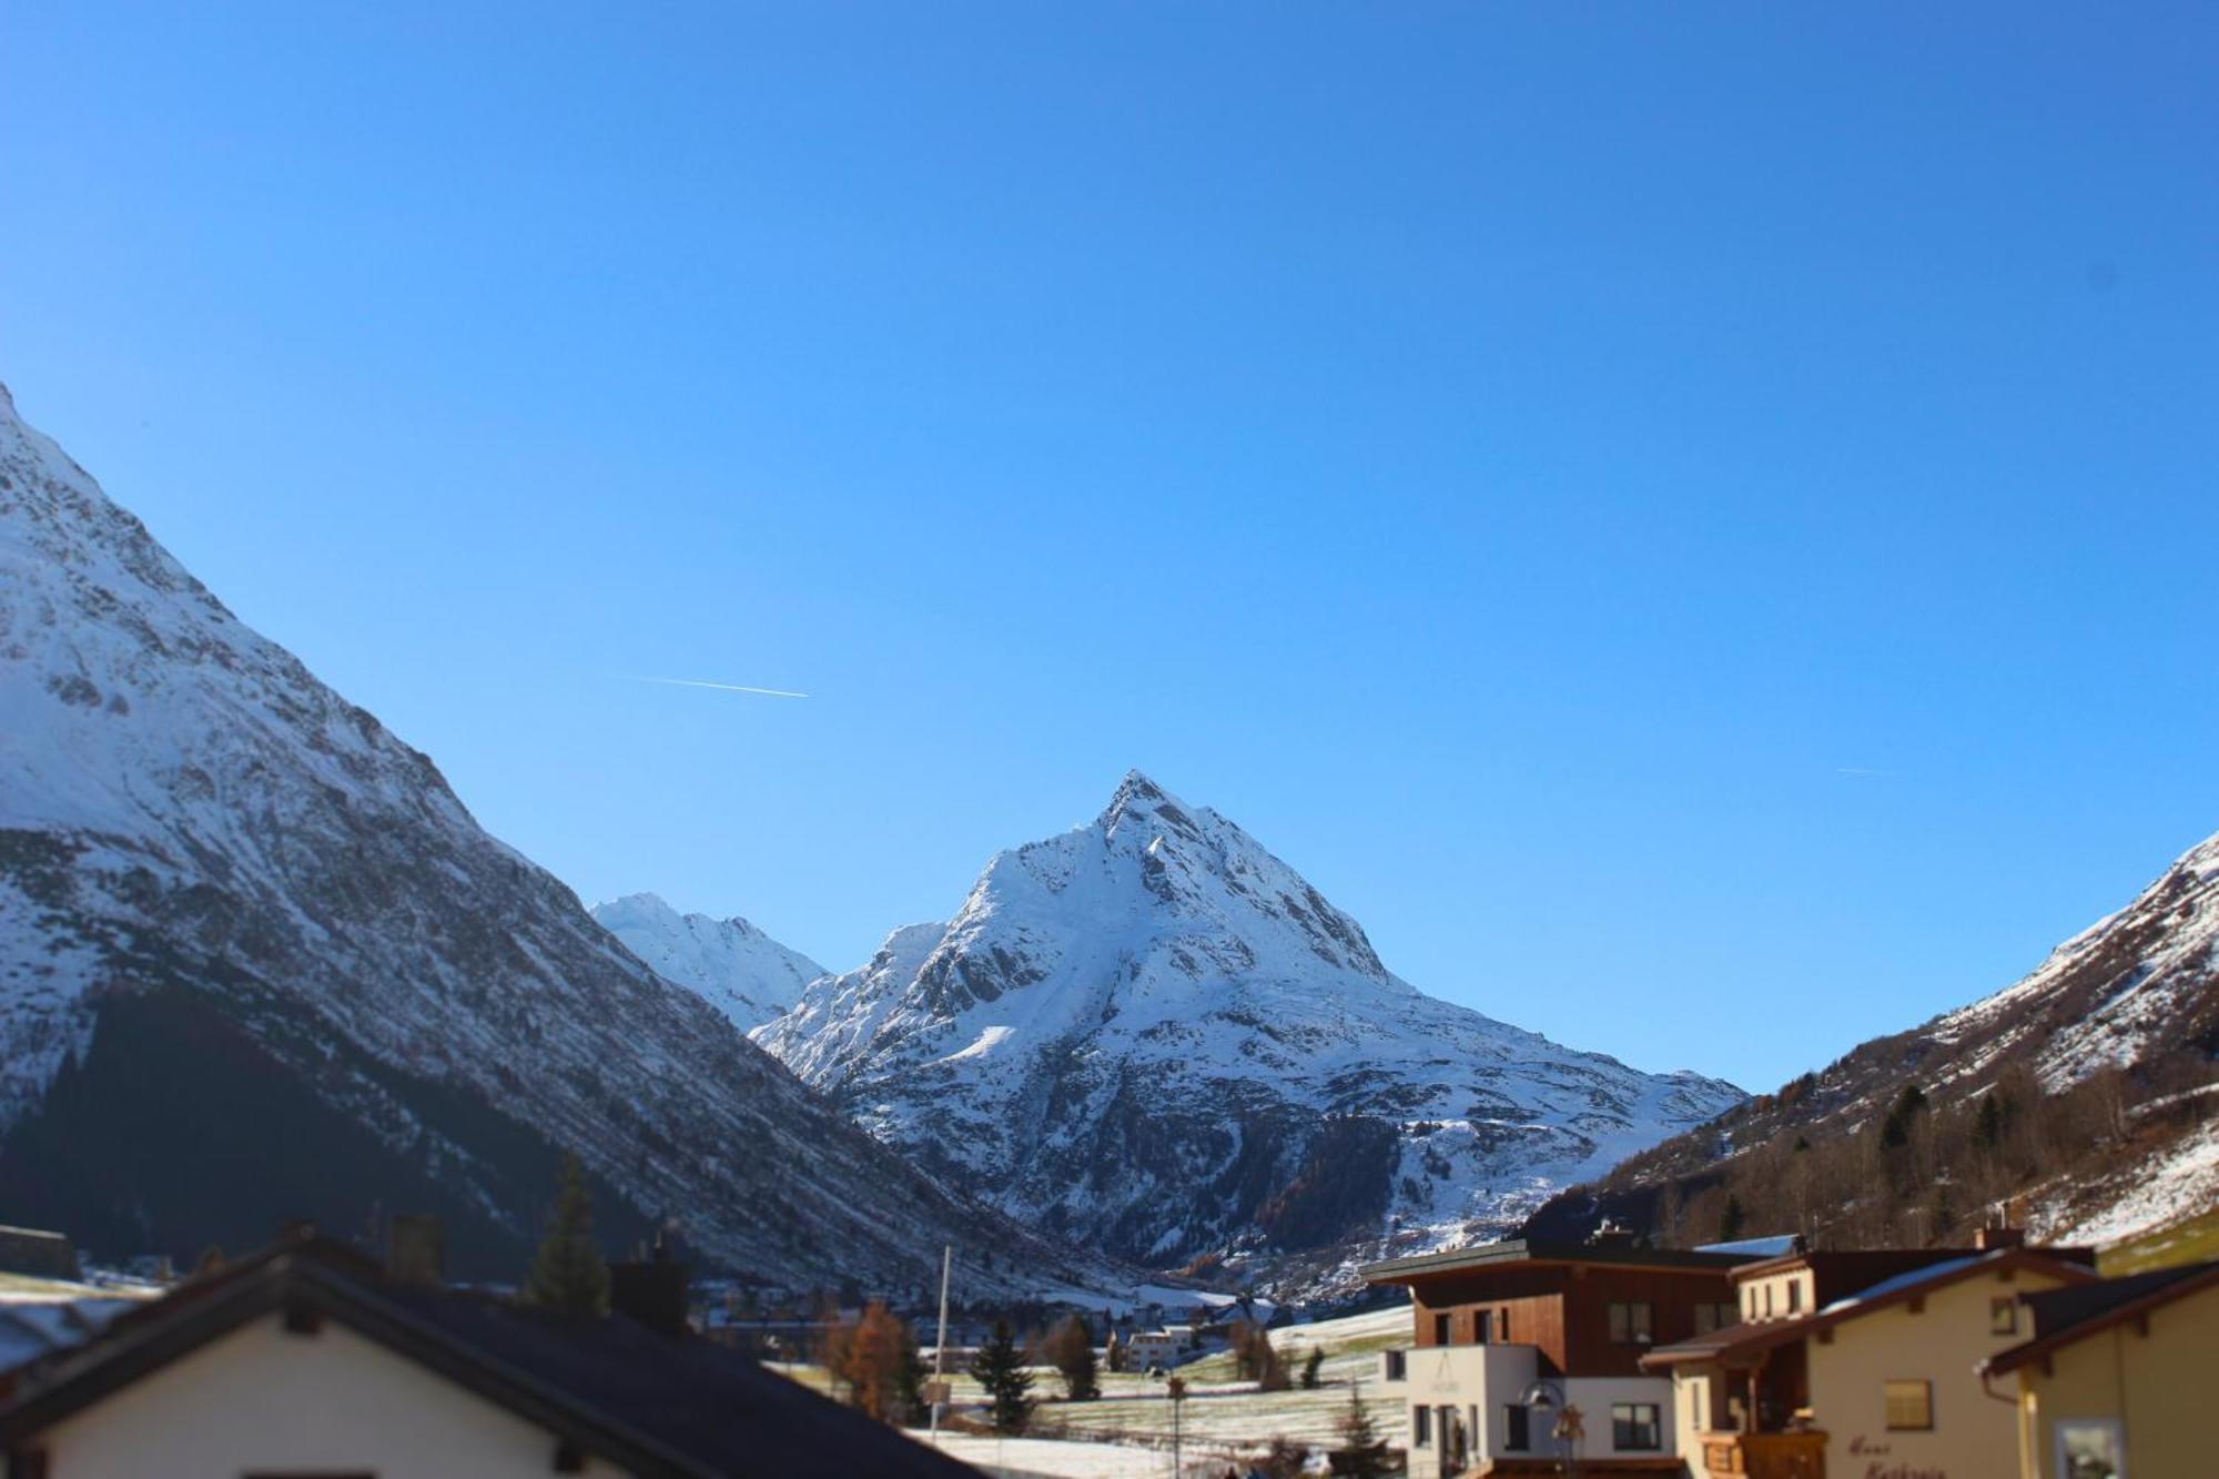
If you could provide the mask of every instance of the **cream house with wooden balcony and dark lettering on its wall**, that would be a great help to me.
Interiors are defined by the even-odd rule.
[[[2024,1335],[2019,1297],[2095,1279],[2081,1248],[1791,1252],[1733,1272],[1737,1321],[1660,1346],[1693,1479],[2008,1479],[2008,1403],[1982,1359]]]

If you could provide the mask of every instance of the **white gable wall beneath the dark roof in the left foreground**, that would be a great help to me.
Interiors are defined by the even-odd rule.
[[[377,1479],[546,1479],[555,1435],[335,1321],[277,1315],[133,1381],[42,1439],[51,1479],[240,1479],[251,1470]],[[624,1470],[592,1461],[592,1479]]]

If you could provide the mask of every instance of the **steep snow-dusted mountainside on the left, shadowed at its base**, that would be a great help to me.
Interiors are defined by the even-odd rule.
[[[617,1246],[1054,1275],[626,953],[0,393],[0,1221],[107,1255],[444,1210],[515,1275],[575,1148]]]

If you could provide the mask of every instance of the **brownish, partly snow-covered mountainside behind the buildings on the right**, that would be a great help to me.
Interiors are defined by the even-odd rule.
[[[2048,1235],[2124,1237],[2172,1208],[2152,1177],[2208,1195],[2168,1168],[2208,1159],[2215,1079],[2219,837],[2017,984],[1631,1157],[1533,1230],[1613,1217],[1700,1241],[1733,1197],[1753,1232],[1935,1237],[2008,1204]]]

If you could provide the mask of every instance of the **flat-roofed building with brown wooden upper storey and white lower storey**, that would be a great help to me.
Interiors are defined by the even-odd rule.
[[[1367,1266],[1371,1284],[1411,1292],[1416,1341],[1380,1361],[1409,1412],[1409,1472],[1556,1475],[1578,1461],[1589,1479],[1678,1475],[1671,1379],[1640,1359],[1731,1326],[1729,1272],[1753,1257],[1602,1235]]]

